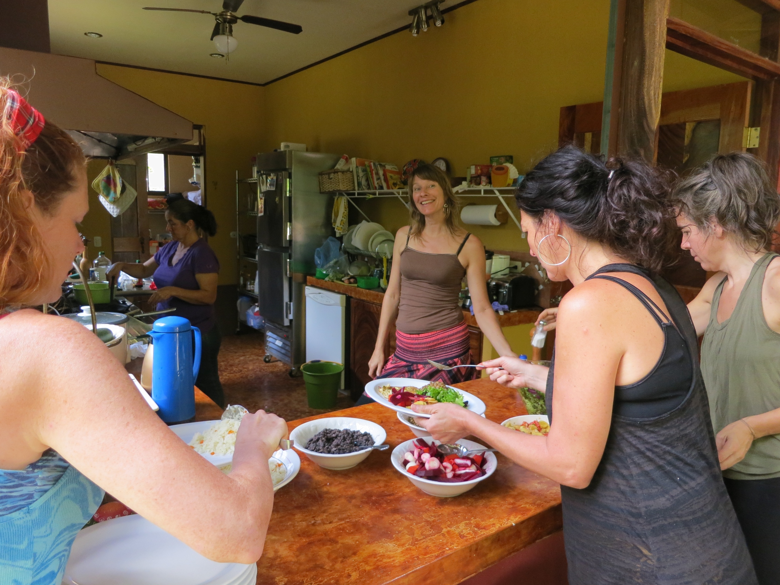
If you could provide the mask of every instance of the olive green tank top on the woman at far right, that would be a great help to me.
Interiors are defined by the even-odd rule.
[[[774,252],[750,271],[731,317],[718,323],[718,304],[726,278],[712,296],[710,322],[701,344],[701,374],[710,399],[715,433],[744,417],[780,408],[780,333],[764,319],[761,289]],[[780,435],[753,441],[745,459],[723,472],[735,480],[780,477]]]

